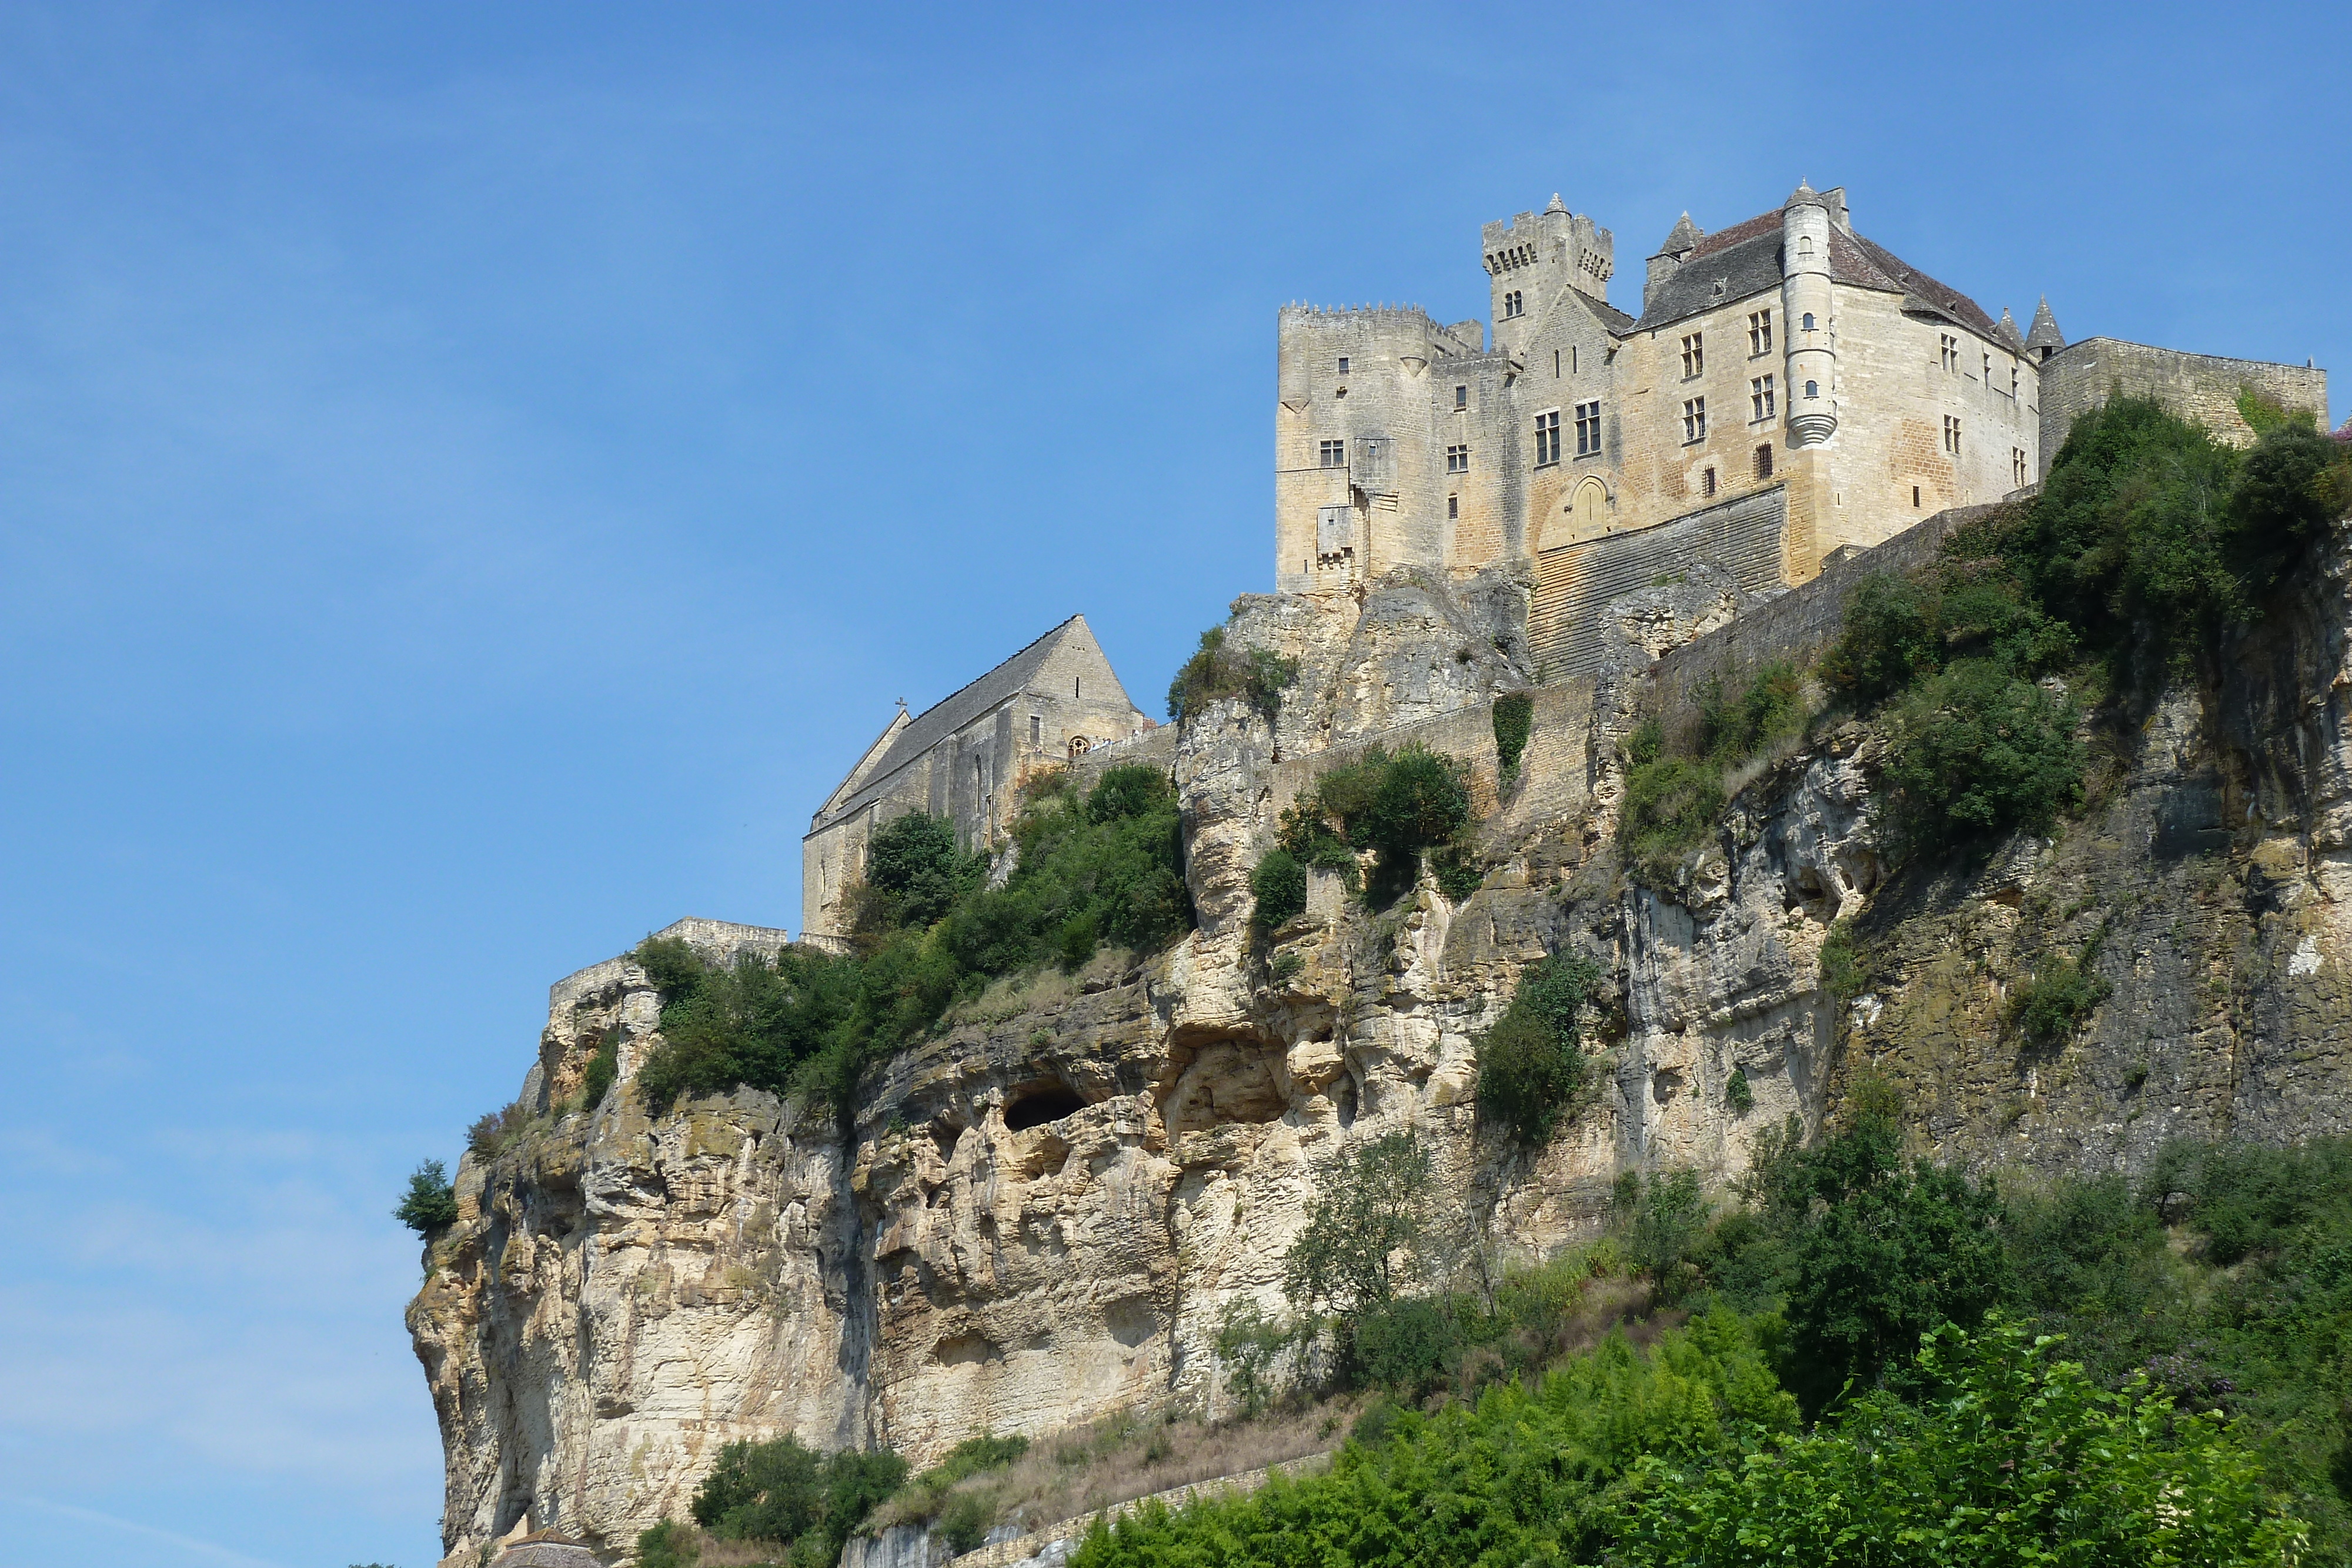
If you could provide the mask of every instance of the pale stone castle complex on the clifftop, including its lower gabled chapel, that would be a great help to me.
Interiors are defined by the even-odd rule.
[[[1418,308],[1282,310],[1275,588],[1503,571],[1529,595],[1538,679],[1595,672],[1602,609],[1665,574],[1773,595],[2037,484],[2112,390],[2239,442],[2249,388],[2328,414],[2310,364],[2070,346],[2046,299],[2025,331],[1992,320],[1860,235],[1844,188],[1799,183],[1712,235],[1684,214],[1639,317],[1609,303],[1613,235],[1557,195],[1486,223],[1479,266],[1491,334]],[[1145,726],[1082,616],[922,715],[901,705],[802,839],[804,940],[847,936],[842,891],[882,820],[931,811],[993,844],[1030,771]]]

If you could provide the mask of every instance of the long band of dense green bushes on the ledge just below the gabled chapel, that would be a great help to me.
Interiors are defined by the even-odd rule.
[[[910,830],[901,849],[901,893],[931,886],[931,872],[962,877],[929,830]],[[1192,924],[1176,792],[1155,769],[1115,766],[1087,795],[1042,795],[1014,823],[1014,853],[1004,886],[957,882],[936,922],[868,931],[847,957],[786,947],[708,966],[682,940],[640,943],[635,959],[661,990],[663,1041],[637,1072],[644,1103],[659,1110],[741,1084],[847,1107],[866,1063],[922,1039],[993,976],[1075,969],[1101,943],[1152,952]],[[894,907],[922,912],[920,900]]]

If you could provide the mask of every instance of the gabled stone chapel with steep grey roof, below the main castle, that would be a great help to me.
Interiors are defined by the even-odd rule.
[[[988,849],[1011,827],[1030,773],[1150,726],[1084,616],[920,715],[901,705],[800,842],[802,940],[847,936],[842,893],[863,877],[866,842],[882,823],[929,811],[953,820],[967,846]]]

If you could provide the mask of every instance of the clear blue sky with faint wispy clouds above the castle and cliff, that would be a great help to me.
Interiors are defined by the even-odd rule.
[[[894,698],[1084,611],[1157,710],[1282,301],[1482,315],[1559,190],[1632,306],[1809,176],[2352,371],[2298,9],[0,5],[0,1563],[430,1563],[407,1168],[550,980],[797,926]]]

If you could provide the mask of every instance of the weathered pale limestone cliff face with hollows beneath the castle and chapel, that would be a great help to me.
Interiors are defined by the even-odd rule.
[[[1489,1258],[1590,1234],[1625,1166],[1738,1173],[1762,1128],[1818,1124],[1865,1065],[1907,1091],[1924,1147],[1973,1164],[2114,1168],[2176,1133],[2340,1128],[2345,574],[2331,559],[2291,614],[2145,705],[2056,844],[1889,879],[1875,741],[1844,724],[1748,780],[1670,891],[1609,846],[1616,741],[1635,672],[1736,609],[1724,592],[1623,607],[1625,670],[1538,689],[1508,783],[1486,703],[1531,677],[1517,585],[1244,599],[1235,637],[1296,654],[1301,682],[1275,724],[1225,703],[1176,738],[1200,931],[997,985],[875,1070],[847,1135],[760,1093],[647,1119],[626,1086],[659,1018],[644,973],[557,987],[527,1107],[572,1093],[607,1032],[623,1088],[463,1161],[461,1220],[409,1309],[452,1559],[524,1519],[621,1554],[736,1436],[887,1441],[920,1465],[983,1429],[1216,1410],[1221,1316],[1279,1312],[1317,1173],[1395,1128],[1432,1150],[1458,1251]],[[1317,875],[1308,914],[1254,947],[1247,875],[1279,809],[1369,736],[1472,764],[1484,886],[1456,907],[1423,882],[1367,914]],[[1867,959],[1851,1004],[1818,980],[1842,914]],[[2016,978],[2093,929],[2112,994],[2072,1039],[2023,1044]],[[1606,976],[1604,1093],[1526,1154],[1477,1121],[1475,1039],[1519,969],[1566,947]]]

